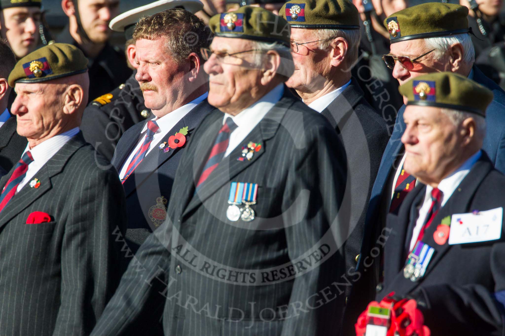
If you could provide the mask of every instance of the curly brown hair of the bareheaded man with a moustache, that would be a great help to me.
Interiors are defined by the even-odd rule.
[[[181,8],[172,8],[140,19],[133,31],[133,40],[167,38],[166,51],[178,64],[200,48],[208,47],[212,33],[203,21]]]

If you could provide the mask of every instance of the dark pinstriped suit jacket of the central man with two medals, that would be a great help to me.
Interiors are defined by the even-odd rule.
[[[285,90],[244,139],[261,150],[238,161],[238,146],[195,192],[222,120],[216,109],[193,133],[168,218],[130,262],[93,335],[134,334],[138,316],[160,297],[166,335],[337,332],[334,298],[343,291],[332,283],[342,282],[342,270],[330,252],[345,223],[337,213],[346,181],[335,130]],[[259,184],[254,221],[226,218],[232,181]]]

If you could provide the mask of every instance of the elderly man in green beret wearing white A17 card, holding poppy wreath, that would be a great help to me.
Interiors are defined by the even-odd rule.
[[[481,150],[493,94],[450,72],[418,76],[399,91],[407,100],[403,167],[420,183],[387,217],[382,289],[362,307],[357,334],[380,328],[374,307],[394,307],[391,334],[502,334],[505,176]]]

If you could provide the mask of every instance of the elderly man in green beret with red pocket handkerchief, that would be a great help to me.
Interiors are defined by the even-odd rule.
[[[55,43],[9,76],[28,140],[0,180],[0,334],[89,333],[121,275],[124,193],[79,131],[89,79],[76,47]]]

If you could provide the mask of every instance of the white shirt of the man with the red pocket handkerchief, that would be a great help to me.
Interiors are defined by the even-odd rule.
[[[33,148],[30,148],[30,144],[26,145],[21,157],[23,157],[27,151],[30,151],[33,161],[28,165],[25,178],[23,178],[23,180],[18,184],[16,193],[18,193],[19,190],[21,190],[21,188],[23,188],[25,184],[31,181],[34,177],[37,178],[36,174],[40,168],[42,168],[42,166],[45,165],[47,161],[49,161],[49,159],[51,159],[77,133],[79,133],[79,127],[74,127],[71,130],[67,130],[64,133],[41,142]],[[41,183],[49,183],[49,181],[41,181]]]

